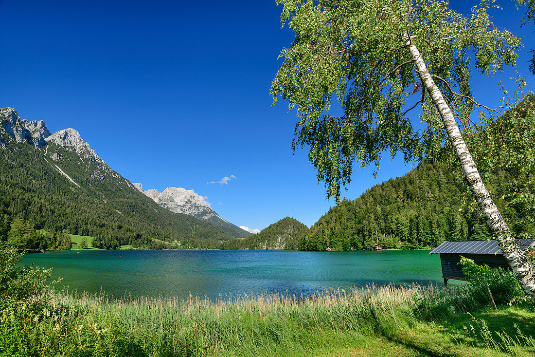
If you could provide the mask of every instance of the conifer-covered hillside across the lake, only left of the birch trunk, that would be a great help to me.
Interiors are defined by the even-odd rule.
[[[423,161],[407,175],[332,207],[301,237],[299,248],[421,248],[469,234],[487,237],[484,222],[459,211],[463,196],[461,179],[448,175],[445,163]]]

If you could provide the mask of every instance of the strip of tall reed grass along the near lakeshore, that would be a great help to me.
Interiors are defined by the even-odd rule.
[[[324,348],[333,341],[350,343],[363,334],[391,337],[416,318],[431,317],[441,303],[451,306],[452,296],[458,300],[455,306],[462,307],[468,298],[462,292],[455,287],[371,285],[312,296],[242,295],[216,301],[194,296],[185,301],[114,300],[68,293],[51,293],[47,301],[58,311],[99,311],[103,321],[117,320],[133,344],[154,355],[272,355]],[[90,324],[93,320],[81,324],[82,329]]]

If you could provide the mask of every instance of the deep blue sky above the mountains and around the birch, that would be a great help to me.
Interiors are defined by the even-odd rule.
[[[464,13],[473,5],[450,3]],[[500,4],[494,23],[521,36],[516,70],[528,74],[533,24],[520,27],[523,9]],[[272,0],[0,0],[0,107],[51,132],[77,129],[128,180],[193,189],[236,225],[262,229],[290,216],[310,226],[334,202],[307,150],[292,154],[295,111],[282,100],[271,106],[277,57],[293,40],[280,11]],[[498,106],[498,82],[513,73],[476,75],[480,101]],[[343,195],[410,169],[385,159],[374,179],[357,167]]]

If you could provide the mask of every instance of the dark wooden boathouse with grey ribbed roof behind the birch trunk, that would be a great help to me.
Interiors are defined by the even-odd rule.
[[[520,239],[518,243],[522,246],[535,246],[533,240]],[[440,254],[444,285],[447,285],[448,279],[466,280],[462,266],[457,265],[461,256],[472,259],[478,265],[510,269],[496,240],[444,242],[429,254]]]

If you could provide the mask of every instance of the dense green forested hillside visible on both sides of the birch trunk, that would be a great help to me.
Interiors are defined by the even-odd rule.
[[[487,189],[517,235],[535,233],[535,117],[525,110],[534,105],[535,97],[528,98],[465,138]],[[374,244],[417,249],[490,238],[458,163],[443,160],[423,160],[407,175],[342,200],[300,237],[299,249],[369,250]]]

